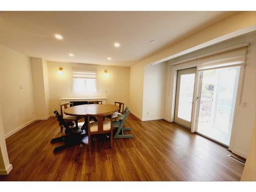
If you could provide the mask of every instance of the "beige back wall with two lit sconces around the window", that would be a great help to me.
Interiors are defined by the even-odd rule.
[[[61,76],[57,75],[59,67],[63,67],[64,74]],[[50,113],[59,110],[59,99],[62,97],[87,97],[72,94],[72,67],[97,69],[98,94],[89,97],[106,97],[107,103],[121,101],[129,106],[130,68],[48,61]],[[108,70],[108,77],[103,75],[105,69]]]

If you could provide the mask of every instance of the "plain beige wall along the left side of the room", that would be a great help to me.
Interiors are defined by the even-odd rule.
[[[0,83],[6,135],[34,119],[30,58],[0,45]]]

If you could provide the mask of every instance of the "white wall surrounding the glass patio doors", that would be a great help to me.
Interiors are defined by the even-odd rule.
[[[247,63],[246,63],[246,73],[244,81],[244,90],[242,102],[247,103],[247,108],[243,108],[242,105],[238,106],[238,116],[234,119],[234,129],[233,136],[231,136],[229,149],[244,158],[247,156],[247,151],[249,147],[249,141],[251,138],[252,127],[255,117],[255,92],[256,92],[256,32],[250,32],[245,35],[226,40],[220,44],[196,51],[185,56],[172,59],[168,63],[184,60],[187,58],[195,57],[196,55],[201,55],[204,53],[209,53],[212,51],[220,50],[230,46],[242,44],[243,42],[248,42],[248,52],[247,52]],[[169,92],[169,67],[166,71],[166,90],[165,90],[165,109],[164,117],[166,119],[172,119],[170,109],[172,109],[172,93]],[[238,93],[238,97],[240,93]]]

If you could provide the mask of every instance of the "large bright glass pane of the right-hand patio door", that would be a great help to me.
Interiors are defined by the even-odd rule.
[[[229,145],[240,66],[203,72],[198,132]]]

